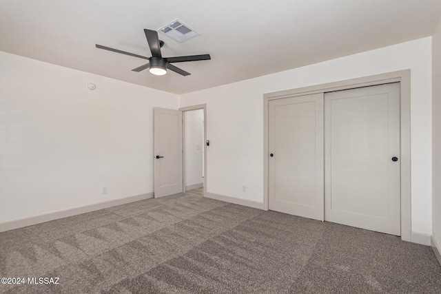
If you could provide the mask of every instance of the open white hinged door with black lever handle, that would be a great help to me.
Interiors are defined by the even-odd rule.
[[[154,197],[183,191],[182,112],[154,108]]]

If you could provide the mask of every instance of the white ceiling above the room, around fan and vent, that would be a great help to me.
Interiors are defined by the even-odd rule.
[[[1,0],[0,50],[183,94],[430,36],[441,0]],[[181,19],[202,33],[186,43],[159,34],[163,56],[190,76],[132,72],[151,56],[144,28]]]

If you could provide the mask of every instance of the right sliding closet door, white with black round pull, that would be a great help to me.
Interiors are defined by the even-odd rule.
[[[399,83],[325,94],[325,220],[400,235]]]

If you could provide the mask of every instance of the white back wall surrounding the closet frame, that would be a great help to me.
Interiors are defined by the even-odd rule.
[[[264,93],[409,68],[412,231],[431,234],[431,37],[182,95],[207,103],[207,191],[263,202]]]

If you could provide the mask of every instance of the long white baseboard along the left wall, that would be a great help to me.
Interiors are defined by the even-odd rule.
[[[41,222],[49,222],[50,220],[58,220],[60,218],[68,218],[70,216],[76,216],[81,213],[88,213],[99,209],[106,209],[114,207],[116,205],[127,204],[139,200],[145,200],[153,198],[152,193],[145,193],[137,196],[131,196],[122,199],[115,199],[106,202],[100,202],[96,204],[90,204],[83,207],[75,207],[72,209],[63,209],[60,211],[54,211],[50,213],[44,213],[39,216],[31,216],[30,218],[21,218],[18,220],[10,220],[8,222],[0,222],[0,232],[10,231],[13,229],[19,229],[22,227],[32,226],[33,224],[40,224]]]

